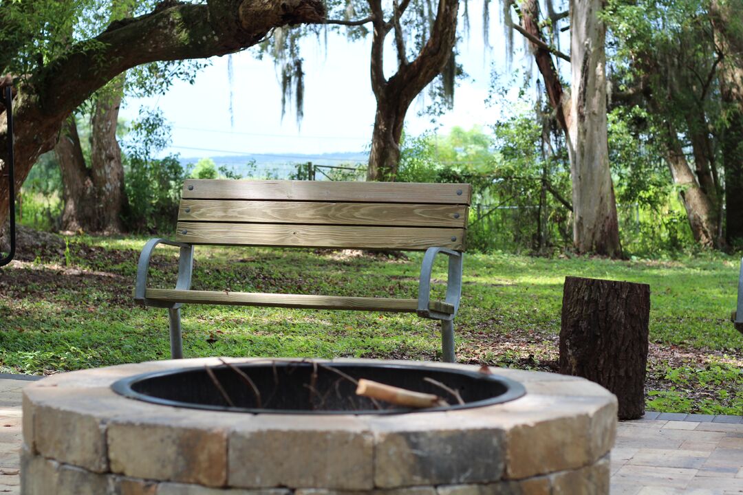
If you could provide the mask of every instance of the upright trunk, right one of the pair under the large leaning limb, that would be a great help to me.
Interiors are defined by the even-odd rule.
[[[106,233],[122,231],[121,215],[126,204],[124,168],[116,140],[124,77],[115,79],[110,91],[100,95],[91,122],[91,168],[98,197],[99,226]]]

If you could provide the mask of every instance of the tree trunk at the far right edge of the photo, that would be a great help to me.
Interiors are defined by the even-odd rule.
[[[710,4],[715,45],[721,51],[718,69],[727,126],[721,148],[725,171],[725,238],[730,246],[743,243],[743,5],[713,0]]]

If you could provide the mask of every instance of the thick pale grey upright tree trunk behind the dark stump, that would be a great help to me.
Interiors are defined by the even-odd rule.
[[[571,0],[571,149],[573,237],[578,252],[618,258],[617,204],[606,124],[606,25],[602,0]]]

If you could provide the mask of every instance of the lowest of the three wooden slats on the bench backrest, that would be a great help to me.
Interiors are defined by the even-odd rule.
[[[412,251],[441,246],[463,251],[465,231],[429,227],[178,222],[176,232],[176,240],[192,244]]]

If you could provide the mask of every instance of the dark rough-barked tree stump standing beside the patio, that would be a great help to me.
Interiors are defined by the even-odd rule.
[[[565,277],[559,371],[582,376],[619,399],[619,419],[645,413],[650,286]]]

